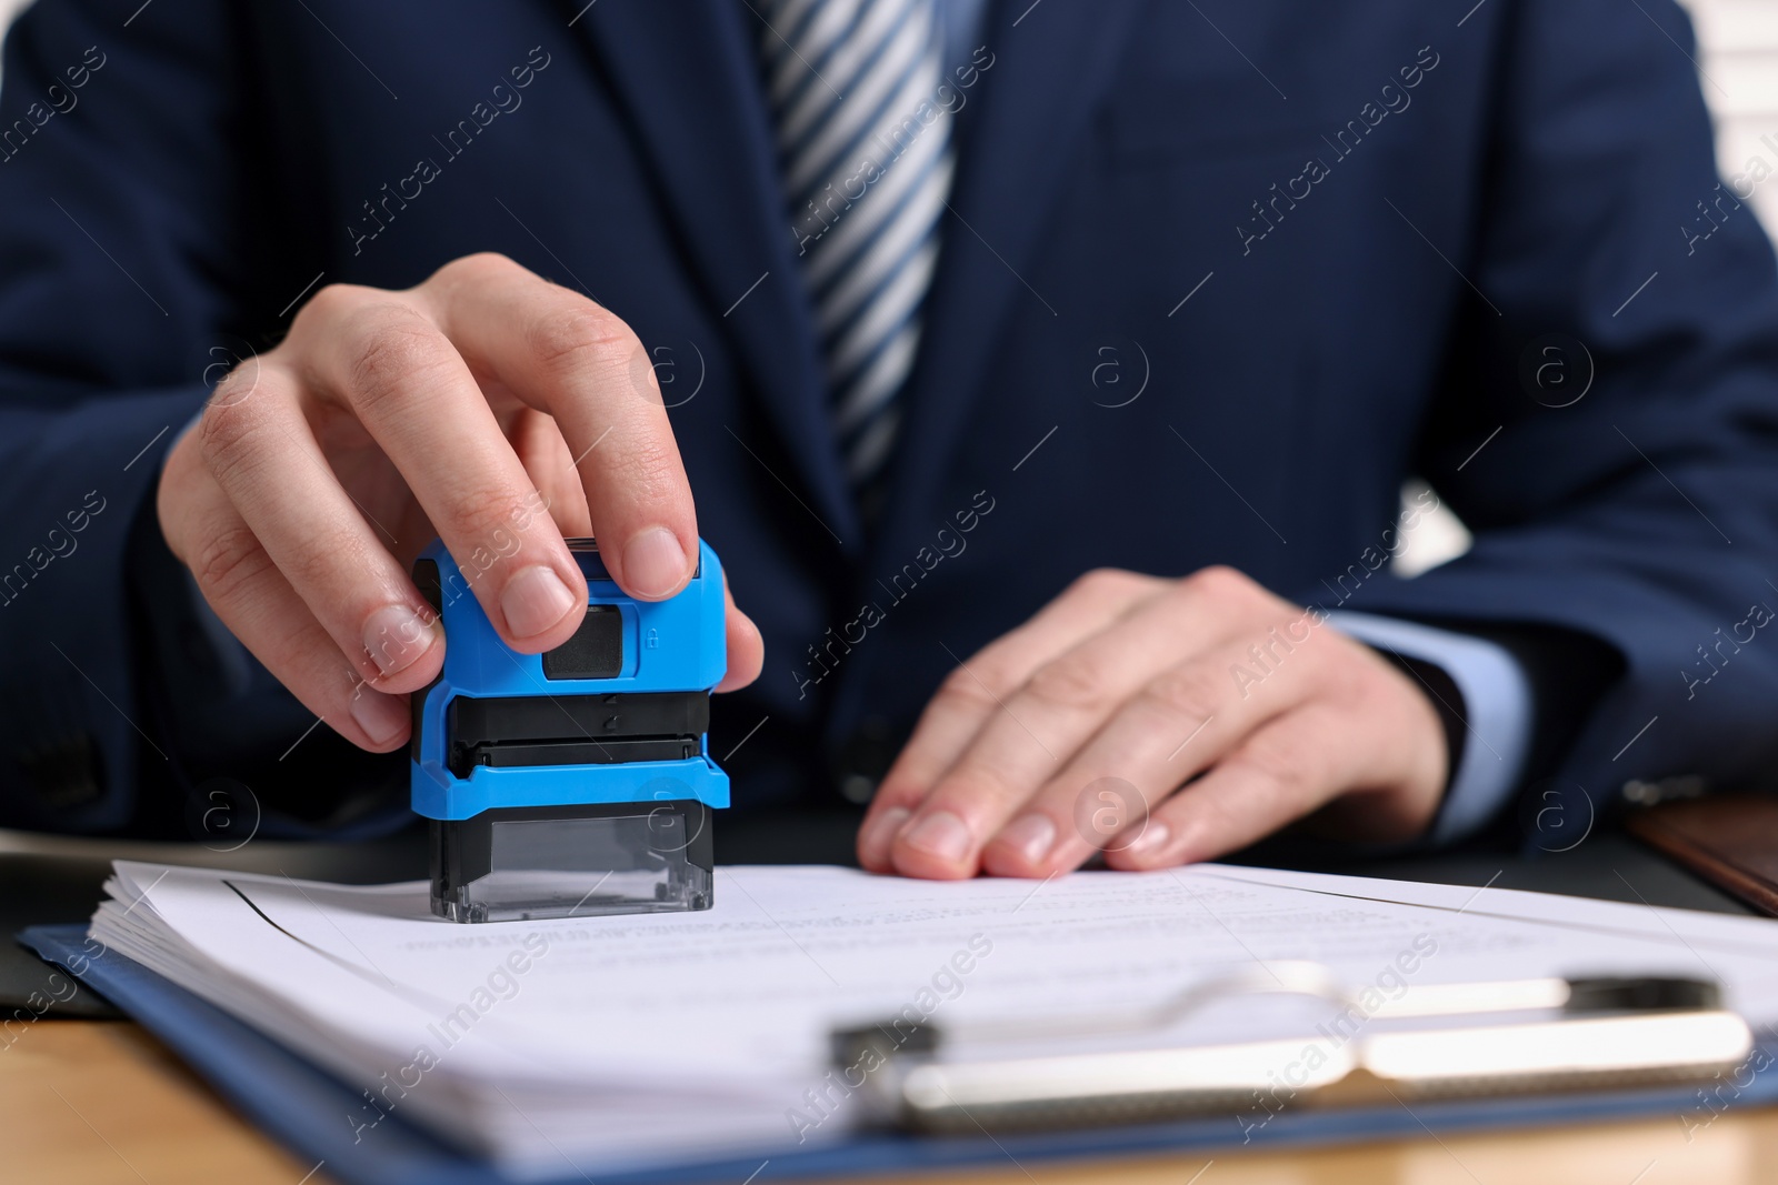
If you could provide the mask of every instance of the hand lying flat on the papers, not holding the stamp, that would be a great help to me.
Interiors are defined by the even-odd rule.
[[[1099,570],[951,673],[877,791],[859,860],[1042,878],[1104,849],[1113,869],[1157,869],[1317,810],[1351,839],[1405,840],[1447,766],[1426,693],[1321,609],[1230,569]]]

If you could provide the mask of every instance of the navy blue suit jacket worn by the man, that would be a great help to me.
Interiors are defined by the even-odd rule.
[[[1778,274],[1684,16],[1643,7],[990,5],[866,533],[745,5],[41,0],[0,99],[4,821],[121,828],[297,746],[332,764],[279,807],[329,823],[327,730],[178,609],[158,462],[316,286],[478,251],[660,368],[766,640],[713,725],[718,757],[749,737],[740,803],[880,764],[958,657],[1102,565],[1590,640],[1614,677],[1545,773],[1593,805],[1753,780]],[[1410,474],[1476,545],[1401,581]]]

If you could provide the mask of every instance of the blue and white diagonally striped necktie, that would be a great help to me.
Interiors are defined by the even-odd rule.
[[[846,478],[866,513],[901,421],[951,185],[933,0],[766,0],[766,98]]]

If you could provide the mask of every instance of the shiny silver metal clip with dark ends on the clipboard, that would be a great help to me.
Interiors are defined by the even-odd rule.
[[[1245,1045],[1058,1052],[1070,1043],[1161,1034],[1232,995],[1289,993],[1355,1000],[1317,963],[1269,963],[1198,984],[1157,1009],[1044,1022],[939,1027],[894,1018],[832,1034],[836,1066],[862,1073],[869,1121],[921,1133],[1017,1132],[1157,1123],[1252,1107],[1278,1096],[1280,1070],[1314,1068],[1284,1087],[1293,1107],[1623,1089],[1710,1078],[1739,1066],[1753,1032],[1696,979],[1598,977],[1417,984],[1360,1013],[1364,1023],[1462,1018],[1447,1027],[1389,1027],[1350,1041],[1296,1036]],[[1543,1013],[1545,1018],[1517,1018]],[[1554,1016],[1550,1016],[1554,1013]],[[973,1048],[1045,1046],[1037,1055],[978,1057]],[[846,1078],[848,1086],[852,1078]],[[1280,1103],[1282,1105],[1282,1103]]]

